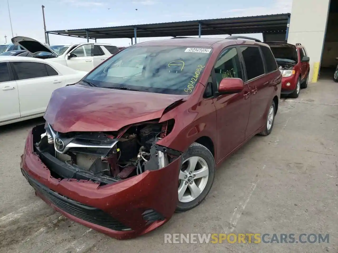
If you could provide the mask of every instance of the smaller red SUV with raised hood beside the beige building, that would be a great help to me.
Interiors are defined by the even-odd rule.
[[[286,42],[265,42],[271,48],[282,72],[282,94],[297,98],[300,89],[308,87],[310,58],[305,47],[300,43],[295,45]]]

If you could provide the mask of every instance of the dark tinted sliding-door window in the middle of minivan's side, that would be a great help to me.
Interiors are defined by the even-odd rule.
[[[265,73],[264,64],[258,47],[241,47],[247,79],[253,79]]]

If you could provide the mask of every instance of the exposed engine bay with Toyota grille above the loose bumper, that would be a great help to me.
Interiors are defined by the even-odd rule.
[[[167,166],[180,154],[156,145],[174,120],[144,122],[120,132],[59,133],[46,123],[33,130],[34,148],[55,178],[109,184]]]

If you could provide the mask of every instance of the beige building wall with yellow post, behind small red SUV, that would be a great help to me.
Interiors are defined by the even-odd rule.
[[[301,43],[310,57],[310,77],[313,63],[320,62],[330,0],[293,0],[288,43]]]

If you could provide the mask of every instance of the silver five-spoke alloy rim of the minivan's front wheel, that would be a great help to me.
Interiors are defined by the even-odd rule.
[[[186,159],[179,172],[178,200],[190,202],[196,199],[206,188],[209,178],[209,167],[201,157]]]

